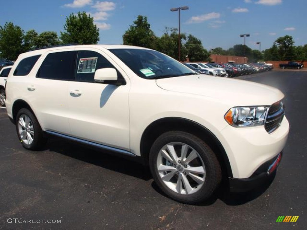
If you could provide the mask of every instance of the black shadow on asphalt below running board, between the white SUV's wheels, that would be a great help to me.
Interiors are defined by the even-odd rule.
[[[65,151],[61,151],[61,149],[65,149]],[[111,151],[98,151],[97,149],[57,137],[49,137],[48,143],[43,150],[56,152],[145,181],[152,178],[149,168],[146,168],[142,163],[132,157],[115,155],[115,153]],[[129,161],[129,163],[127,163],[127,161]]]

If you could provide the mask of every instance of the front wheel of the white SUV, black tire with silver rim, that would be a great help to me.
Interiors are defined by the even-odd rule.
[[[182,146],[180,148],[181,144]],[[180,155],[180,158],[178,158],[180,160],[177,159],[177,165],[164,157],[164,148],[168,148],[166,146],[172,145],[174,145],[173,149],[176,149],[176,155],[178,157]],[[182,159],[181,151],[185,148],[183,146],[188,146],[186,148],[191,149],[186,151],[186,157],[183,157]],[[192,154],[193,151],[194,153]],[[191,158],[193,160],[188,161],[190,155],[197,155],[197,157],[193,158],[192,156]],[[173,157],[172,159],[173,162],[175,162]],[[188,161],[188,163],[185,163],[185,160]],[[199,166],[199,164],[201,166]],[[159,136],[150,149],[149,165],[153,179],[159,188],[173,200],[182,203],[196,204],[207,200],[212,196],[221,182],[221,167],[216,155],[203,140],[188,132],[170,131]],[[158,171],[158,165],[160,172]],[[161,167],[171,167],[171,171],[164,168],[161,170]],[[194,170],[196,168],[204,170],[204,173],[199,170]],[[198,172],[195,174],[195,171],[198,171],[201,174],[198,174]],[[165,179],[165,175],[167,175],[166,177],[169,179]],[[193,179],[195,175],[202,179],[201,183]],[[164,177],[166,182],[164,182],[161,177]],[[190,190],[191,188],[192,190]],[[178,190],[181,192],[178,192]],[[188,193],[188,190],[190,190],[190,193]]]

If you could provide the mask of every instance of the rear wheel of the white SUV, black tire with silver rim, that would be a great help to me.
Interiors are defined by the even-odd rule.
[[[19,141],[26,149],[39,150],[47,142],[36,117],[28,109],[23,108],[18,111],[16,131]]]

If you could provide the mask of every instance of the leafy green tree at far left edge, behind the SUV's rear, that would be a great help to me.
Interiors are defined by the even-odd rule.
[[[0,51],[2,57],[16,60],[18,55],[23,52],[24,31],[12,22],[6,22],[0,26]]]

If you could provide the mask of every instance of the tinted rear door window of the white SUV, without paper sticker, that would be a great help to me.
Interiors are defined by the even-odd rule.
[[[37,71],[37,78],[74,80],[76,51],[49,53]]]

